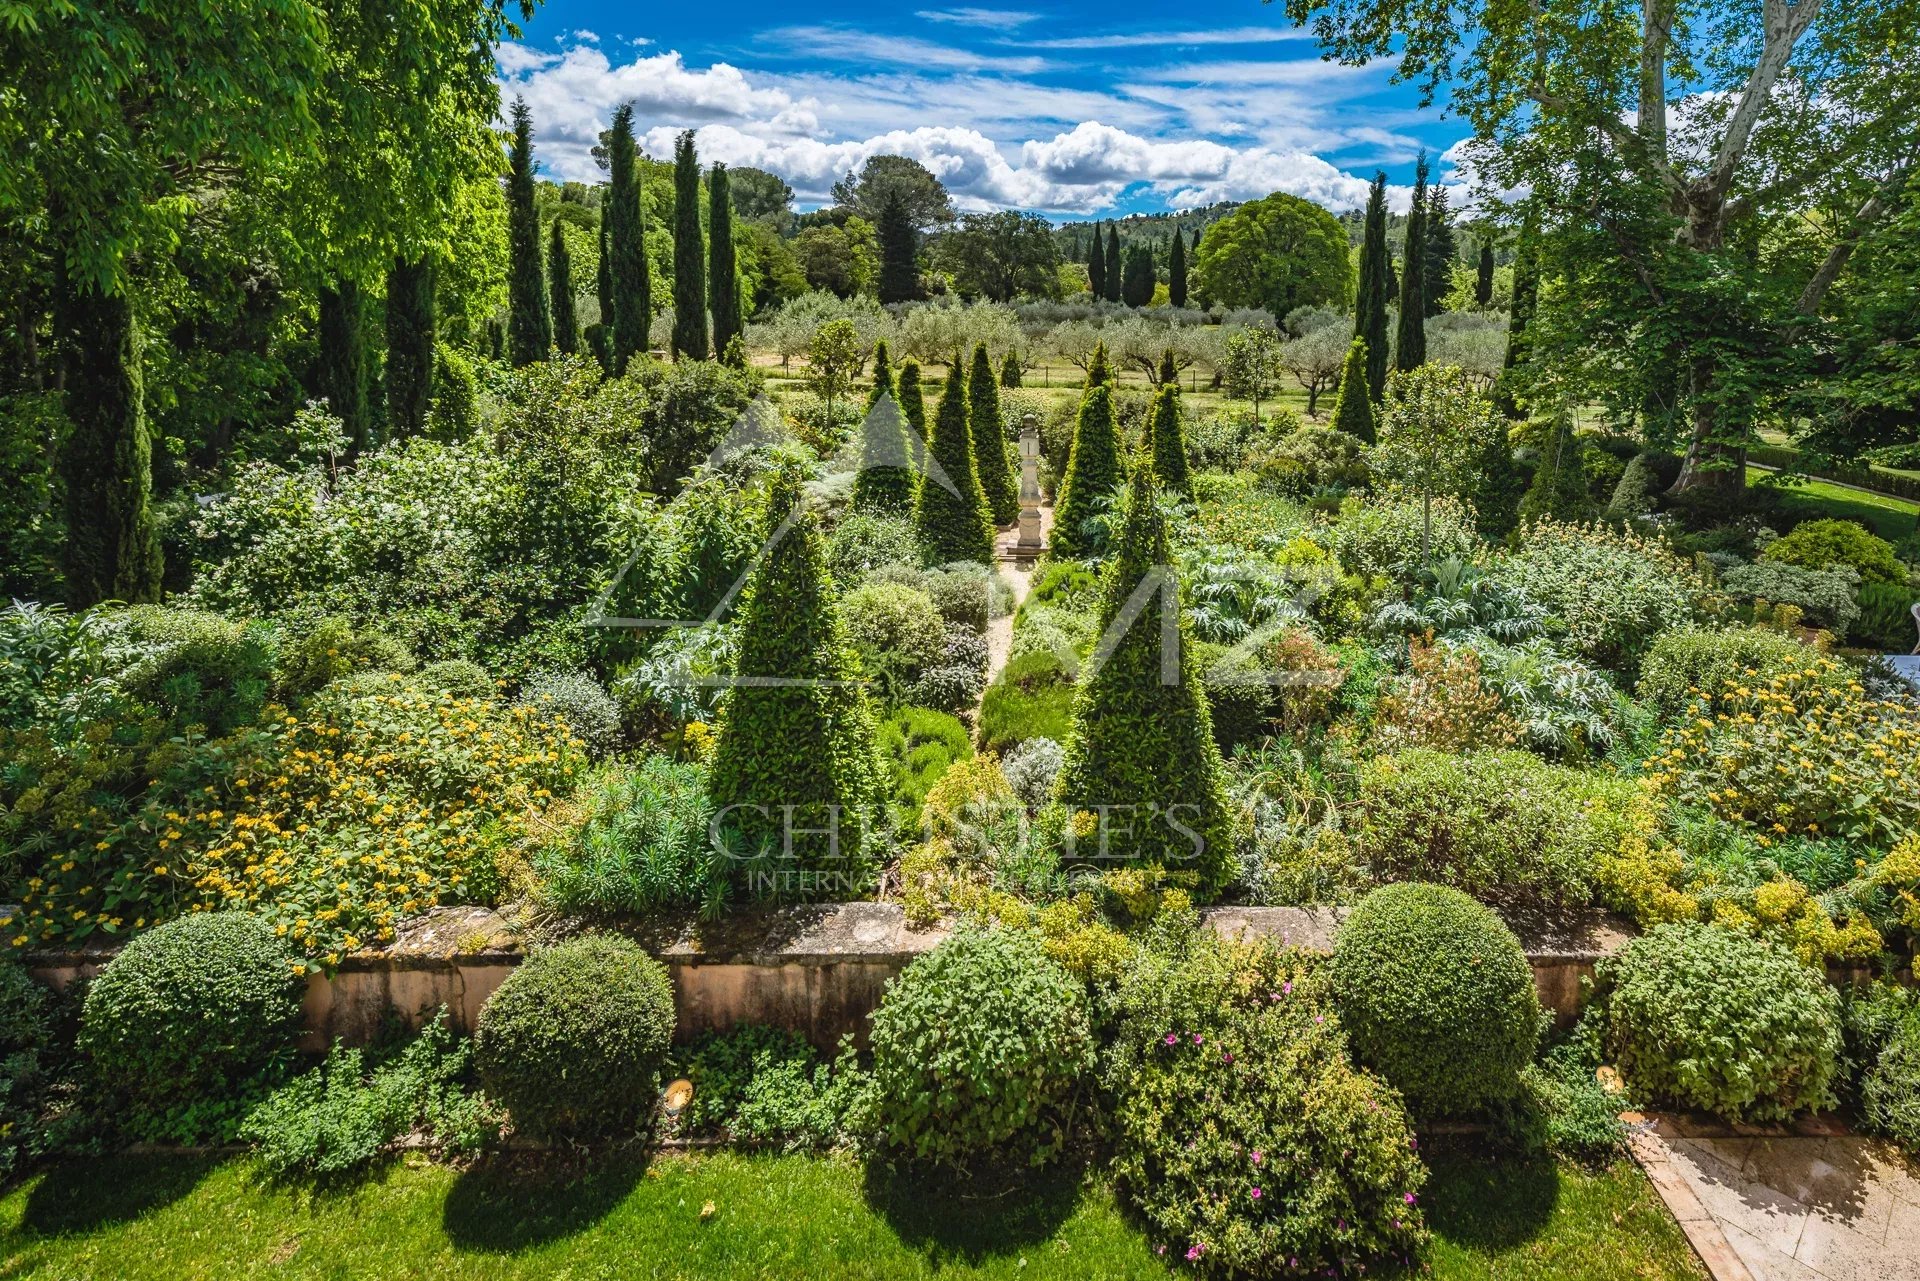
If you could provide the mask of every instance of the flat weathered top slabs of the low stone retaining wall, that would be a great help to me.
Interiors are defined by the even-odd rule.
[[[1279,939],[1309,951],[1332,951],[1346,908],[1331,906],[1212,906],[1206,928],[1223,937]],[[1632,935],[1626,922],[1601,912],[1565,916],[1511,914],[1521,951],[1536,964],[1594,964]],[[952,933],[952,922],[910,926],[897,903],[818,903],[756,912],[733,912],[703,922],[668,916],[618,926],[651,955],[672,966],[904,966]],[[31,968],[98,968],[121,941],[79,949],[29,953]],[[407,920],[392,943],[346,956],[344,972],[511,966],[524,953],[518,928],[493,908],[442,906]]]

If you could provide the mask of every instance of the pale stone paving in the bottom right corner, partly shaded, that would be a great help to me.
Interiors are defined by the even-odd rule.
[[[1628,1114],[1634,1160],[1715,1281],[1920,1281],[1920,1170],[1834,1118]]]

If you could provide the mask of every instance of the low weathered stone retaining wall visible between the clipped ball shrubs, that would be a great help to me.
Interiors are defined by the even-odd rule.
[[[1327,951],[1344,914],[1331,908],[1221,906],[1206,924],[1227,937],[1277,937]],[[947,937],[947,926],[908,930],[893,903],[831,903],[674,922],[636,930],[636,939],[674,976],[676,1039],[735,1024],[793,1027],[820,1049],[843,1033],[866,1035],[866,1016],[887,979]],[[1580,979],[1630,935],[1619,922],[1515,922],[1534,966],[1540,1001],[1563,1024],[1580,1008]],[[472,1031],[480,1006],[520,962],[516,933],[488,908],[438,908],[380,949],[355,953],[330,978],[313,976],[305,995],[305,1049],[342,1039],[369,1041],[390,1014],[413,1026],[442,1004],[455,1027]],[[29,956],[54,987],[96,974],[109,951]]]

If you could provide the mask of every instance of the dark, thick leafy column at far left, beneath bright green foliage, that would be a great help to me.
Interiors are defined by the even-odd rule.
[[[73,292],[63,278],[56,298],[71,424],[60,446],[67,605],[152,603],[161,593],[161,551],[132,303],[123,294]]]

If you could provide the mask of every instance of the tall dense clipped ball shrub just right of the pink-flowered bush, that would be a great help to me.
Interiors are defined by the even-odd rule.
[[[1382,885],[1340,926],[1329,966],[1359,1060],[1417,1114],[1513,1099],[1540,1039],[1534,972],[1513,931],[1457,889]]]

